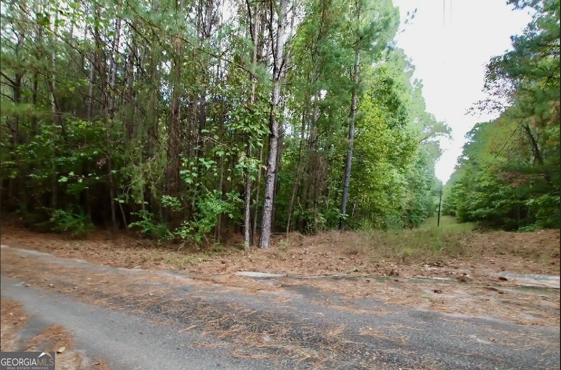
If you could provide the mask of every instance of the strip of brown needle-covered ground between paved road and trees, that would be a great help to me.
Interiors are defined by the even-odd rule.
[[[559,275],[559,231],[399,233],[323,232],[277,236],[271,248],[180,250],[130,235],[98,232],[88,240],[35,233],[2,223],[3,244],[124,268],[196,274],[260,271],[289,275],[378,275],[458,278],[508,284],[489,272]],[[467,276],[466,276],[467,275]]]

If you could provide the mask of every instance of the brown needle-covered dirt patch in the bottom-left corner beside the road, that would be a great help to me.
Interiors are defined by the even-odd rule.
[[[56,352],[58,370],[109,370],[99,361],[86,365],[80,353],[74,352],[70,334],[60,325],[47,327],[39,334],[20,343],[19,333],[29,319],[19,303],[10,299],[0,301],[0,347],[2,352],[17,350]]]

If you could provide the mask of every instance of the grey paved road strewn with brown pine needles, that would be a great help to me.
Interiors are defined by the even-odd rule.
[[[33,315],[23,338],[63,325],[78,350],[114,370],[559,368],[559,327],[376,299],[353,299],[362,311],[344,311],[332,307],[348,299],[303,286],[246,294],[3,248],[1,294]]]

